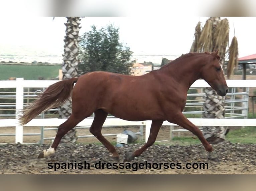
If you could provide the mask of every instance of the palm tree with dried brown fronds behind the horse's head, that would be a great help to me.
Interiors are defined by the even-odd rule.
[[[233,37],[230,48],[229,45],[229,22],[220,17],[210,17],[203,29],[198,22],[195,30],[195,39],[190,52],[213,52],[219,50],[220,62],[223,67],[226,53],[229,52],[229,62],[227,67],[227,78],[233,73],[234,67],[238,64],[238,45],[236,37]],[[228,49],[228,51],[227,51]],[[224,118],[225,97],[217,95],[212,88],[205,88],[205,103],[203,118]],[[211,144],[220,143],[225,140],[227,127],[204,126],[204,137]]]

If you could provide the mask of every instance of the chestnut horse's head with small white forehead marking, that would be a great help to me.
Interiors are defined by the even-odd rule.
[[[201,70],[201,77],[216,90],[218,95],[225,96],[228,93],[228,86],[220,64],[218,51],[210,54],[207,58],[207,63]]]

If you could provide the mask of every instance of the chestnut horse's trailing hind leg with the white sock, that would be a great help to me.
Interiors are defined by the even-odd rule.
[[[48,148],[47,150],[41,151],[38,155],[38,158],[43,158],[43,157],[47,157],[47,156],[50,156],[50,155],[54,154],[57,147],[58,147],[58,144],[59,144],[61,138],[69,130],[74,128],[83,119],[84,119],[84,117],[83,118],[82,117],[77,118],[73,114],[71,114],[71,116],[64,123],[59,125],[57,134],[56,134],[55,139],[54,139],[52,145],[50,146],[50,148]]]

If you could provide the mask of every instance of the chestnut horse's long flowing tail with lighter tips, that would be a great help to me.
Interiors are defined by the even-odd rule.
[[[23,115],[19,117],[20,124],[24,125],[39,115],[42,111],[58,107],[71,97],[74,83],[78,78],[62,80],[50,85],[42,94],[28,107],[24,109]]]

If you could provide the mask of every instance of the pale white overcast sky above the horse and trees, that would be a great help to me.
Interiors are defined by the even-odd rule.
[[[239,57],[256,53],[256,17],[228,18],[230,43],[235,34]],[[188,53],[193,42],[198,21],[203,24],[208,17],[85,17],[81,20],[80,35],[92,25],[99,29],[108,24],[119,27],[120,41],[127,44],[138,62],[160,63],[162,58],[175,59]],[[0,56],[45,56],[63,54],[65,17],[0,17]],[[234,26],[234,27],[233,27]],[[152,56],[154,55],[154,56]],[[1,57],[0,57],[1,59]]]

